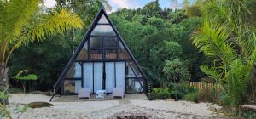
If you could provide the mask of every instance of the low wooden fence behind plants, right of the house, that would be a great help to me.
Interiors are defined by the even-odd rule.
[[[195,88],[198,88],[199,90],[207,90],[212,91],[213,89],[216,89],[217,92],[220,92],[221,86],[219,83],[207,83],[207,82],[190,82],[189,85]]]

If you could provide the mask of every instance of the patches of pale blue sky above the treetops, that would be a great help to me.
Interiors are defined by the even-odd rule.
[[[112,6],[112,12],[119,8],[143,8],[143,6],[154,0],[107,0]],[[177,3],[172,3],[177,1]],[[55,6],[55,0],[44,0],[47,7],[52,8]],[[161,8],[182,8],[183,0],[159,0]],[[176,4],[176,5],[175,5]],[[176,7],[175,7],[176,6]]]

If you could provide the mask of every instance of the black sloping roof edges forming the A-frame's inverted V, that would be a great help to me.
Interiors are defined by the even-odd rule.
[[[131,54],[131,50],[127,47],[125,41],[123,40],[123,38],[120,36],[119,31],[116,29],[115,26],[113,26],[113,22],[111,20],[109,20],[108,18],[108,14],[106,13],[106,11],[104,10],[104,8],[101,8],[100,11],[96,14],[95,19],[93,20],[93,23],[90,25],[89,30],[86,32],[86,34],[83,37],[82,42],[79,43],[79,47],[75,50],[74,54],[72,55],[71,59],[68,61],[67,66],[65,67],[65,69],[62,71],[61,76],[58,78],[57,82],[55,82],[54,85],[54,89],[57,89],[59,87],[59,85],[61,84],[61,81],[63,81],[63,78],[65,77],[65,75],[67,74],[68,70],[72,67],[73,62],[76,60],[76,58],[79,55],[79,52],[81,51],[81,49],[84,47],[84,43],[88,41],[87,37],[90,37],[91,32],[94,30],[94,28],[97,25],[97,22],[101,19],[102,15],[104,15],[106,17],[106,19],[108,20],[108,23],[110,24],[110,26],[112,26],[114,33],[116,34],[116,37],[118,37],[119,42],[121,42],[121,44],[124,46],[127,54],[131,57],[131,60],[134,62],[134,64],[137,66],[138,71],[141,72],[142,76],[144,77],[144,79],[146,80],[146,82],[149,83],[148,77],[145,75],[145,73],[143,72],[141,66],[137,63],[137,60],[135,59],[135,57]],[[148,96],[148,95],[147,95]],[[53,98],[53,97],[52,97]],[[50,99],[51,100],[51,99]]]

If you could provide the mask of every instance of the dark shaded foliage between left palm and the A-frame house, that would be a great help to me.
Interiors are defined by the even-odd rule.
[[[38,75],[37,82],[27,82],[28,90],[48,90],[60,76],[62,68],[67,64],[73,53],[72,39],[64,39],[62,35],[47,38],[42,42],[34,42],[19,48],[10,59],[10,75],[17,74],[20,69],[27,69],[27,73]],[[31,59],[33,58],[33,59]],[[27,61],[29,60],[29,62]],[[40,63],[38,63],[40,62]],[[16,81],[12,81],[19,87]]]

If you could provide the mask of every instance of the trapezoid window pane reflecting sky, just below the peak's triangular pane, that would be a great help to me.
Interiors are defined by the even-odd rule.
[[[90,35],[97,36],[114,36],[115,33],[110,25],[97,25]]]

